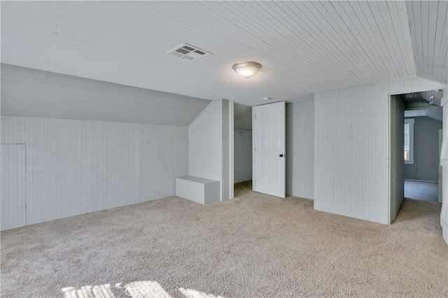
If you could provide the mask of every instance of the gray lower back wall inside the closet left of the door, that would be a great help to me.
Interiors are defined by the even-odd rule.
[[[235,129],[234,144],[235,183],[252,180],[252,131]]]

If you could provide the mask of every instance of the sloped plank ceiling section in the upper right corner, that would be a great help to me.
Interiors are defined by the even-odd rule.
[[[448,1],[407,1],[417,76],[448,83]]]

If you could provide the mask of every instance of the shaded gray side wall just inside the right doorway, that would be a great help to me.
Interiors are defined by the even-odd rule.
[[[405,197],[403,148],[405,146],[405,104],[401,97],[391,96],[391,211],[393,222]]]

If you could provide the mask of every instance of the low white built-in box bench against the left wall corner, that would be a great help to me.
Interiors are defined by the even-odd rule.
[[[219,201],[219,181],[194,176],[176,177],[176,196],[210,204]]]

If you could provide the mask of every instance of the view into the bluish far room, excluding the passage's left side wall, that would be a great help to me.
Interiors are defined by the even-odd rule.
[[[401,94],[405,104],[405,197],[442,202],[443,90]],[[440,198],[439,198],[440,195]]]

